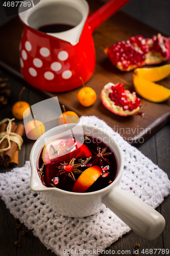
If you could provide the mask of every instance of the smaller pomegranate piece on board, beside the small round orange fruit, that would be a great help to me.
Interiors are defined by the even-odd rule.
[[[101,100],[104,106],[119,116],[131,116],[139,111],[141,100],[136,93],[125,90],[123,83],[109,82],[101,92]]]

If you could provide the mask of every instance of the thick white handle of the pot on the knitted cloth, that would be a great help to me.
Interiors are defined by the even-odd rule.
[[[158,211],[119,187],[113,188],[102,203],[145,240],[156,239],[164,229],[165,219]]]

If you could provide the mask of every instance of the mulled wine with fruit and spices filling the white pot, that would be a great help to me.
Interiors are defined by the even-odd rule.
[[[45,186],[88,193],[114,181],[118,165],[109,146],[91,136],[85,136],[79,146],[81,139],[77,138],[57,139],[42,148],[37,168]],[[66,154],[59,156],[62,151]]]

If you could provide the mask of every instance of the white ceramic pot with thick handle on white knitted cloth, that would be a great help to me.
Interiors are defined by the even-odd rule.
[[[54,127],[45,132],[34,144],[30,154],[31,189],[40,192],[42,198],[52,209],[68,217],[86,217],[100,211],[104,205],[109,207],[135,233],[146,240],[156,239],[164,229],[165,220],[162,215],[149,205],[126,193],[118,187],[124,169],[123,153],[115,139],[105,131],[91,125],[83,126],[85,135],[102,139],[114,152],[118,163],[118,174],[107,187],[90,193],[73,193],[59,188],[46,187],[42,184],[37,172],[37,159],[44,146],[44,139],[62,134],[64,125]],[[67,124],[71,129],[75,124]]]

